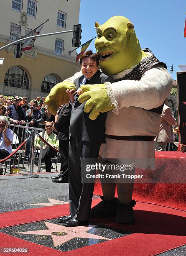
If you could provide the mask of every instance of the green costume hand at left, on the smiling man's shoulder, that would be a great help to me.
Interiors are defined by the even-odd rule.
[[[45,100],[45,105],[48,105],[48,110],[52,114],[56,114],[58,107],[69,102],[69,95],[67,89],[76,89],[76,86],[69,81],[64,81],[56,84],[48,94]]]

